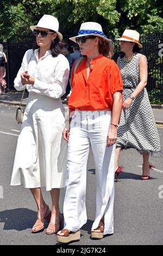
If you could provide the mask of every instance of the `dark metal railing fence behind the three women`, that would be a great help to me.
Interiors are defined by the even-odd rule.
[[[141,36],[142,52],[148,60],[148,82],[147,90],[152,103],[163,103],[163,33],[147,34]],[[115,45],[115,58],[120,52],[120,45],[117,40]],[[1,42],[0,42],[1,43]],[[13,44],[9,40],[2,43],[7,53],[7,83],[9,89],[14,89],[14,78],[21,66],[24,53],[32,48],[32,40]]]

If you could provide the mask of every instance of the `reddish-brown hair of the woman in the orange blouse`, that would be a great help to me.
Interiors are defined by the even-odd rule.
[[[108,42],[103,38],[99,38],[98,51],[100,54],[102,53],[103,56],[111,59],[114,54],[114,47],[111,42]]]

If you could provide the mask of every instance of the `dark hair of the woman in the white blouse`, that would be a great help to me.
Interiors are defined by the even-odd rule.
[[[52,29],[50,29],[50,32],[55,33],[55,31],[53,31]],[[51,44],[52,56],[57,57],[60,53],[64,53],[65,46],[66,46],[65,42],[60,41],[58,38],[58,35],[57,35],[57,37],[54,39],[54,41],[52,41],[52,44]],[[35,39],[34,44],[33,44],[33,51],[37,48],[40,48],[40,47],[37,45],[37,42]]]

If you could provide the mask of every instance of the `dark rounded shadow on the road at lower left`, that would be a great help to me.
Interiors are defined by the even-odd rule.
[[[27,208],[18,208],[0,212],[0,223],[4,223],[4,230],[25,230],[32,228],[36,221],[36,212]]]

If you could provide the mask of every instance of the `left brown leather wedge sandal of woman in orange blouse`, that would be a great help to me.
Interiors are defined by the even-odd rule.
[[[60,233],[64,233],[64,235],[60,235]],[[69,243],[72,241],[80,240],[80,230],[76,232],[72,232],[68,229],[62,229],[57,233],[57,242],[61,243]]]

